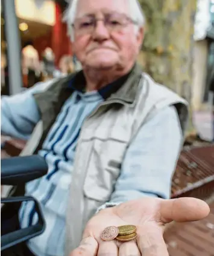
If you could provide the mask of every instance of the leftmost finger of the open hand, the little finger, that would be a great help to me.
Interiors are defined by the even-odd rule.
[[[80,246],[71,252],[70,256],[96,256],[98,251],[98,242],[93,237],[84,238]]]

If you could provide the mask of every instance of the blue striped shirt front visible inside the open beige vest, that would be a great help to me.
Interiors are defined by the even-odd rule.
[[[75,147],[84,119],[102,100],[98,92],[75,91],[63,105],[39,151],[48,163],[48,174],[26,185],[26,194],[39,200],[46,220],[45,232],[28,242],[36,255],[64,255],[65,214]],[[36,224],[33,202],[22,204],[19,219],[22,228]]]

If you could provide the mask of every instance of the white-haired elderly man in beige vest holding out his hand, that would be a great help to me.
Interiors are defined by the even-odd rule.
[[[25,188],[46,219],[25,255],[166,256],[166,223],[209,213],[197,199],[168,200],[187,103],[136,64],[144,25],[136,0],[73,1],[66,17],[83,71],[2,99],[2,132],[28,139],[36,126],[25,153],[49,166]],[[19,222],[37,222],[33,205],[22,205]],[[100,238],[121,225],[135,225],[137,238]]]

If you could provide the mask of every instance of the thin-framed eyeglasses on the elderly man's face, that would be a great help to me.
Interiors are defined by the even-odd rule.
[[[109,32],[120,31],[130,23],[137,25],[136,21],[133,21],[124,14],[112,13],[104,15],[103,19],[96,19],[94,16],[90,15],[78,18],[74,21],[72,26],[78,34],[91,34],[95,30],[98,21],[103,21]]]

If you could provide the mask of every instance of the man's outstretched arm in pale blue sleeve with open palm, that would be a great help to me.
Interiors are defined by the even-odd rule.
[[[166,224],[192,222],[209,214],[209,206],[202,200],[154,198],[169,197],[182,137],[173,107],[156,113],[142,126],[125,155],[110,202],[115,207],[103,209],[89,220],[83,240],[71,256],[166,256],[169,255],[163,239]],[[100,234],[105,228],[121,225],[135,225],[136,240],[125,243],[102,241]]]

